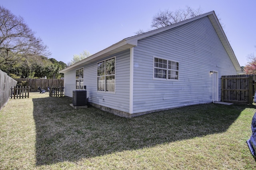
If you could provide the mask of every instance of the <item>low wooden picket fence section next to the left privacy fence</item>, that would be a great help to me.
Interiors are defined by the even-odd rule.
[[[12,99],[24,99],[29,98],[29,86],[28,87],[19,87],[16,86],[14,88],[11,87],[10,98]]]

